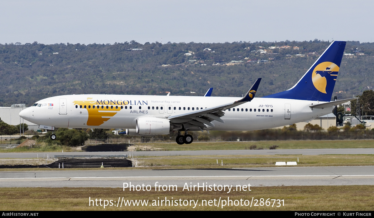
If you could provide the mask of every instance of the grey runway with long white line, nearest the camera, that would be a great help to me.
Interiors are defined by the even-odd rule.
[[[112,187],[132,185],[216,184],[290,185],[374,185],[374,166],[269,167],[175,170],[42,170],[4,171],[0,187]]]

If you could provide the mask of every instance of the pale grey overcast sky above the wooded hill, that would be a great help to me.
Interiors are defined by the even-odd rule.
[[[373,42],[374,1],[1,0],[0,43]]]

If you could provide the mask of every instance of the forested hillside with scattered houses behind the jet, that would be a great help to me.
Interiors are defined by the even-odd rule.
[[[64,94],[256,97],[291,88],[330,42],[0,44],[0,106]],[[333,96],[373,89],[374,43],[347,42]]]

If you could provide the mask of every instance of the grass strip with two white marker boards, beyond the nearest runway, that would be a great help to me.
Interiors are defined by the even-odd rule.
[[[136,158],[138,166],[237,168],[275,167],[275,162],[296,161],[297,166],[373,166],[374,155],[226,155]],[[218,160],[218,164],[217,164]],[[221,163],[223,162],[223,166]]]

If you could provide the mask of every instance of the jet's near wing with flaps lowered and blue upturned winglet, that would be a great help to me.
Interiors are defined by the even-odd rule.
[[[215,120],[218,122],[224,122],[221,119],[221,117],[225,114],[223,112],[224,110],[250,102],[255,97],[260,82],[261,78],[258,78],[245,96],[236,102],[214,106],[212,108],[205,108],[194,112],[183,113],[180,115],[172,115],[169,116],[168,119],[177,127],[174,129],[178,130],[203,130],[203,128],[207,128],[208,126],[214,127],[214,124],[211,123],[212,121]]]

